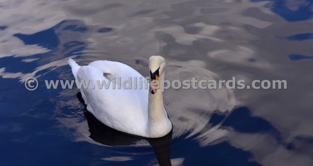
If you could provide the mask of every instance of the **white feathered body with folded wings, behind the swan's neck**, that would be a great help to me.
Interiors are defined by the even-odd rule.
[[[133,68],[126,64],[110,61],[96,61],[88,66],[81,66],[77,72],[78,80],[89,81],[87,89],[81,89],[88,100],[87,109],[102,123],[117,130],[128,133],[140,133],[145,131],[147,123],[148,90],[146,89],[99,89],[98,82],[109,82],[104,77],[110,74],[121,77],[142,77]],[[95,88],[93,88],[95,87]]]

